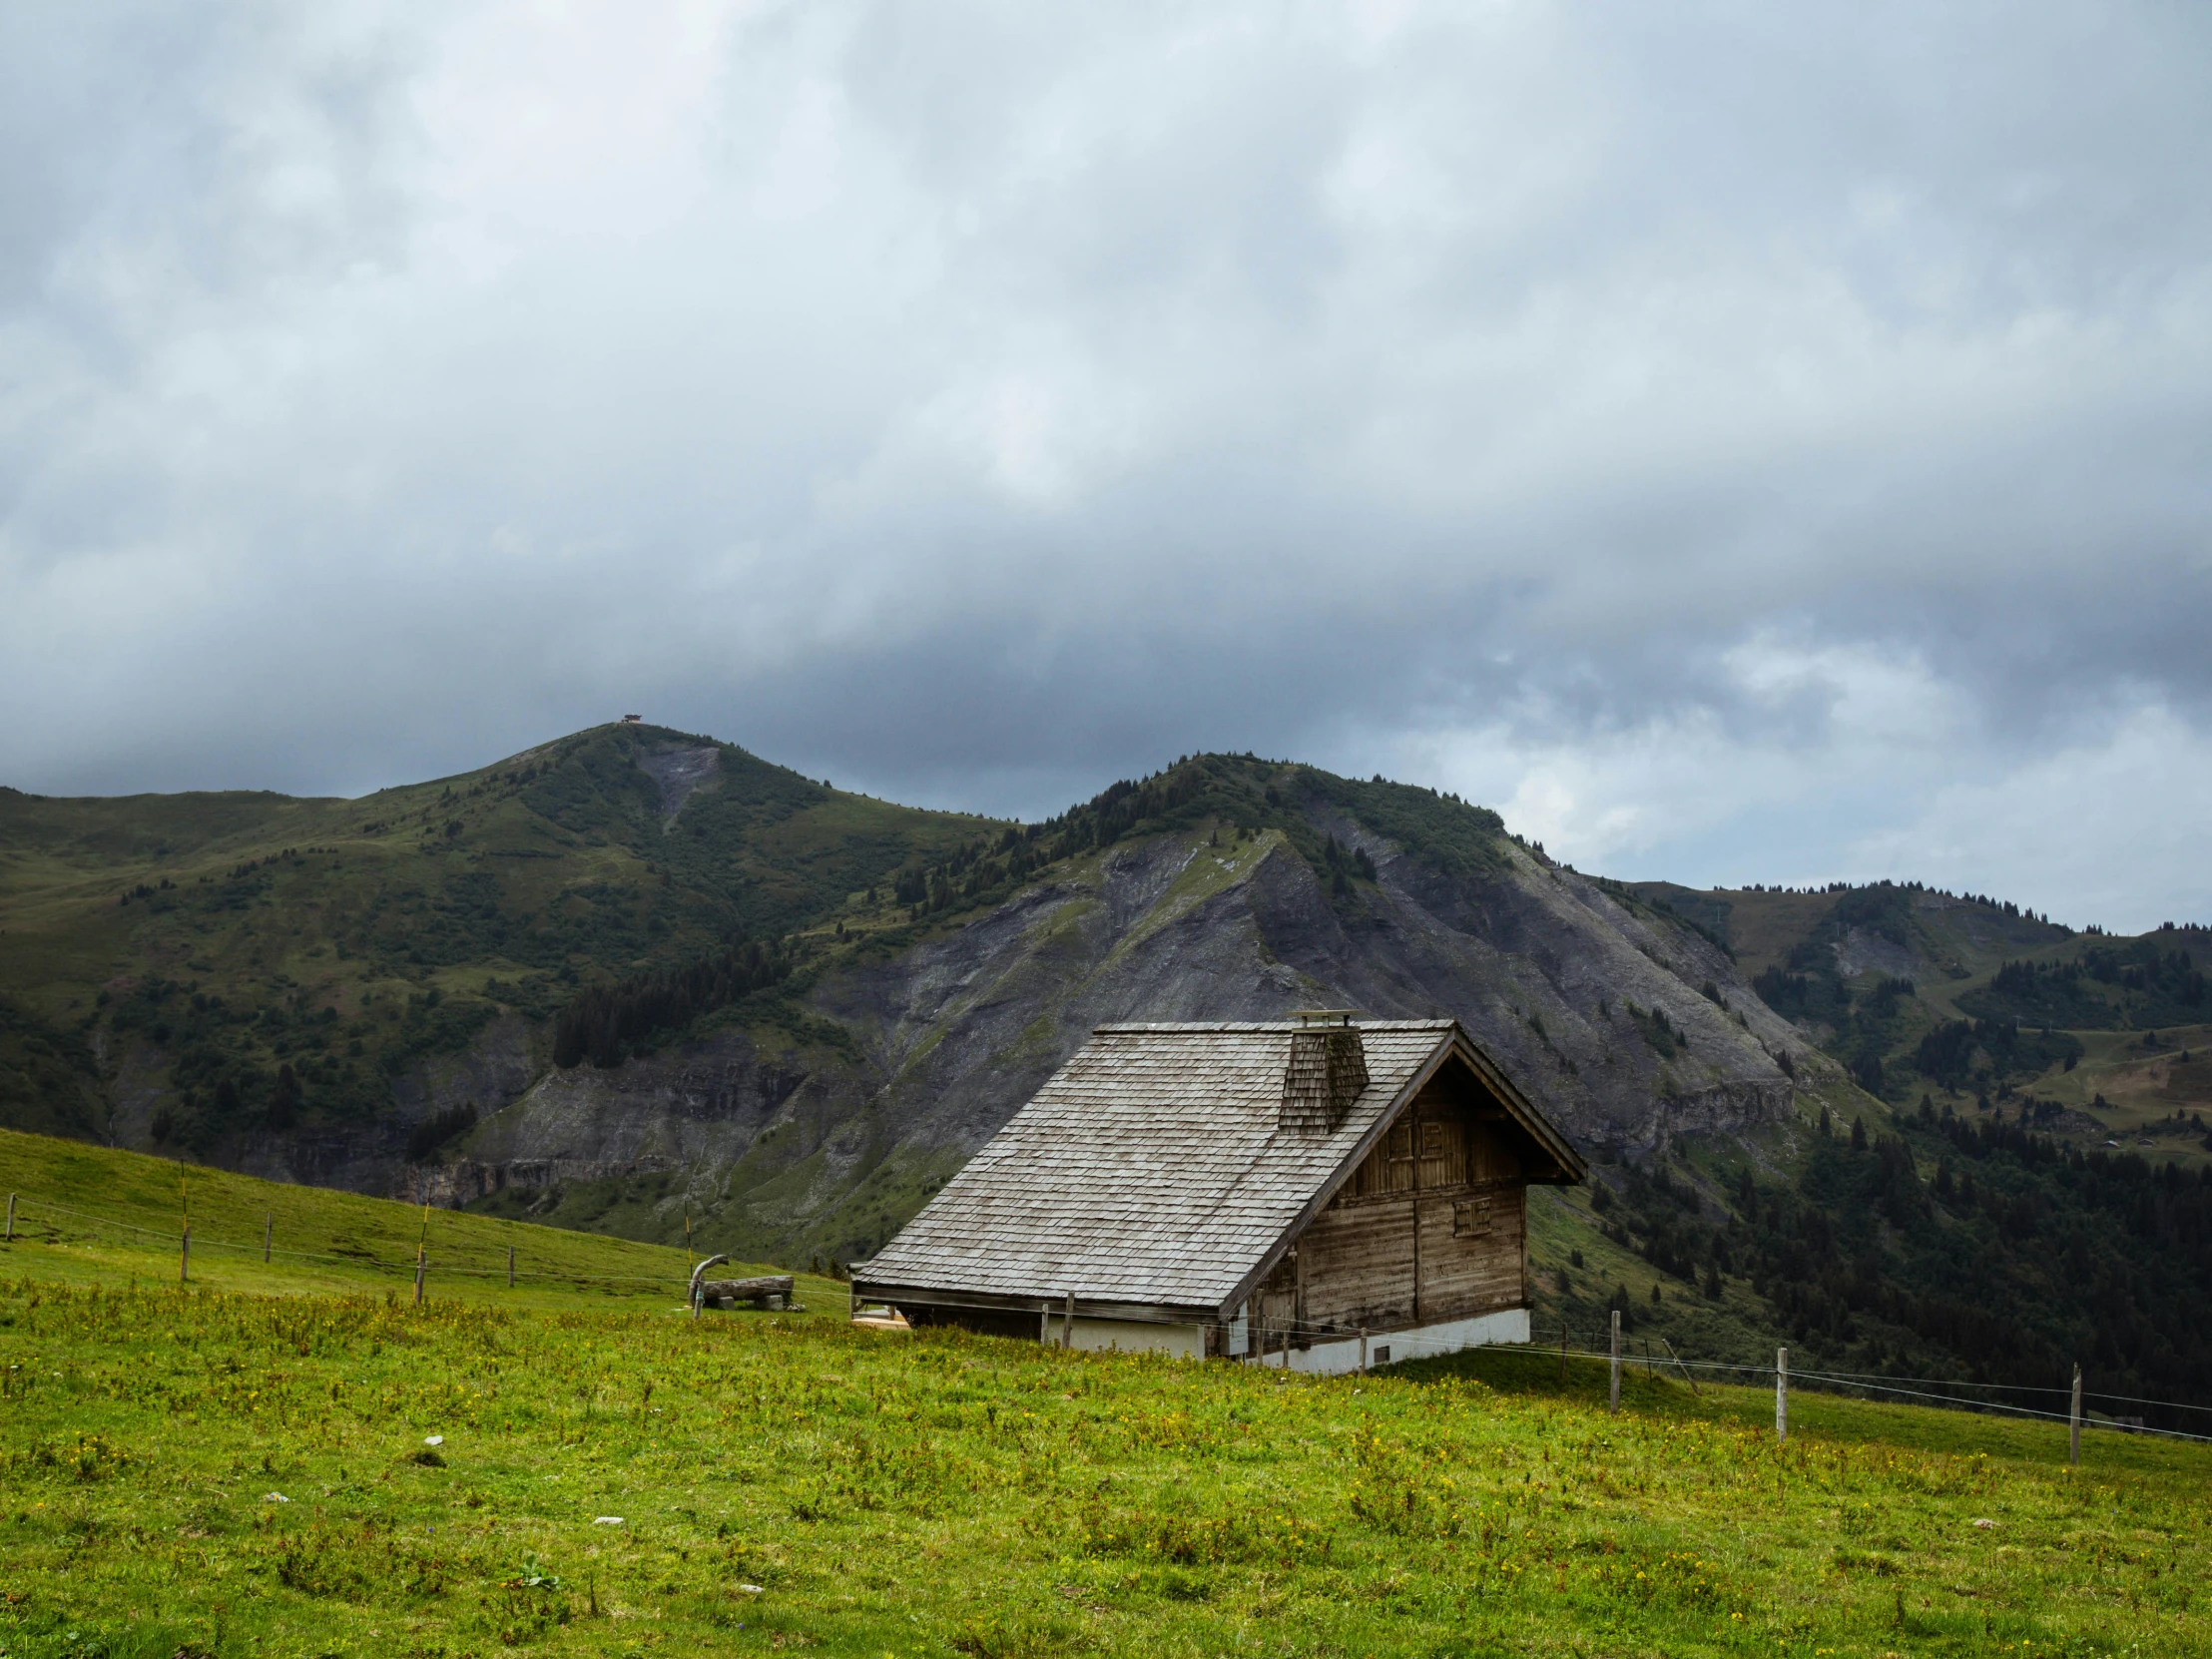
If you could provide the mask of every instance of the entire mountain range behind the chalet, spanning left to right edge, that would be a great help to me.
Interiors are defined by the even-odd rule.
[[[2172,1391],[2212,1310],[2201,936],[1606,883],[1256,757],[1035,825],[650,726],[365,801],[0,794],[0,945],[4,1121],[748,1259],[874,1252],[1099,1020],[1325,1002],[1462,1018],[1597,1159],[1540,1318]]]

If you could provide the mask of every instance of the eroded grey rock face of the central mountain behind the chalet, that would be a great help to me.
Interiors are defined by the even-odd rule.
[[[688,1206],[717,1248],[860,1256],[1108,1020],[1455,1015],[1597,1157],[1792,1113],[1776,1053],[1801,1079],[1827,1071],[1725,953],[1595,880],[1511,843],[1493,874],[1453,876],[1312,816],[1374,883],[1332,889],[1276,832],[1124,843],[823,980],[790,1026],[546,1071],[467,1157],[403,1188],[553,1203],[564,1183],[661,1177],[653,1201]]]

